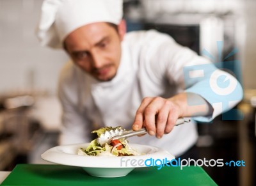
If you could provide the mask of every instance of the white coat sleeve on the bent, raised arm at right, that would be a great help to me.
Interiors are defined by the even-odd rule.
[[[180,91],[200,95],[212,106],[211,116],[196,116],[195,120],[209,122],[241,101],[241,84],[236,77],[216,67],[221,67],[221,63],[211,63],[167,35],[152,33],[150,38],[154,43],[148,49],[150,74],[156,79],[167,78]],[[188,100],[188,104],[200,105],[200,102]]]

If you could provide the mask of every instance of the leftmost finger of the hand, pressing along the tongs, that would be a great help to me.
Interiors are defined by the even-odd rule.
[[[136,111],[134,121],[132,123],[132,129],[133,130],[139,130],[143,126],[144,121],[144,110],[145,107],[151,102],[152,98],[146,97],[143,98],[140,107]]]

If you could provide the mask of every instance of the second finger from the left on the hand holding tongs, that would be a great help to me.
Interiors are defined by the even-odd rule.
[[[154,98],[145,108],[144,125],[150,135],[156,134],[156,115],[161,109],[162,99],[163,98]]]

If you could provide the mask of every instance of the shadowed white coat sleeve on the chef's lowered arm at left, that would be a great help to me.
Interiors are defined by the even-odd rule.
[[[60,144],[75,144],[90,142],[90,121],[86,114],[77,109],[77,84],[72,81],[75,75],[70,66],[61,71],[58,84],[58,97],[62,106],[62,127]]]

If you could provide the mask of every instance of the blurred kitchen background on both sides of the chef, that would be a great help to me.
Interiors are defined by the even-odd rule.
[[[19,163],[41,164],[40,154],[58,145],[58,74],[68,60],[61,50],[41,47],[35,37],[42,0],[0,0],[0,171]],[[200,159],[244,160],[245,167],[204,167],[218,185],[256,185],[256,1],[124,1],[128,31],[158,29],[203,55],[227,61],[244,87],[237,105],[243,120],[198,124]],[[234,63],[235,64],[235,63]],[[172,173],[170,173],[172,174]]]

